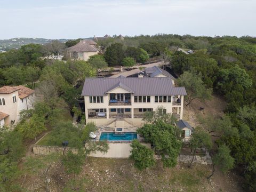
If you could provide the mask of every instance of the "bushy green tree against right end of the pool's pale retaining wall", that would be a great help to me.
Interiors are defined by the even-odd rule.
[[[155,165],[154,152],[151,149],[141,145],[138,140],[133,140],[131,147],[130,158],[133,159],[135,167],[142,170]]]

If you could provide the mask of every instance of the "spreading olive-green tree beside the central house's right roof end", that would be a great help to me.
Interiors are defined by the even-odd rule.
[[[211,99],[212,89],[207,89],[203,84],[201,75],[194,71],[185,71],[178,79],[179,86],[185,86],[187,91],[188,106],[194,99]]]

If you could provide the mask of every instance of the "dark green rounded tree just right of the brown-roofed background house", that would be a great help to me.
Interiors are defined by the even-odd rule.
[[[121,43],[114,43],[107,47],[104,57],[109,66],[119,66],[124,59],[124,50]]]

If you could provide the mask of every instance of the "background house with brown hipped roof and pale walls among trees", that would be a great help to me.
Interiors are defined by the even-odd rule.
[[[87,61],[92,55],[99,53],[100,49],[96,45],[97,43],[92,39],[86,39],[74,46],[68,47],[66,50],[71,59]]]

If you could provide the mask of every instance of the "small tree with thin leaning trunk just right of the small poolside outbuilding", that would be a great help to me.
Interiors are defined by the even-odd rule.
[[[192,138],[189,140],[189,143],[190,143],[191,151],[193,153],[192,160],[188,166],[188,167],[191,167],[191,165],[194,161],[196,149],[197,148],[205,148],[205,149],[210,150],[212,148],[212,140],[208,133],[206,133],[204,131],[195,131],[192,134]]]

